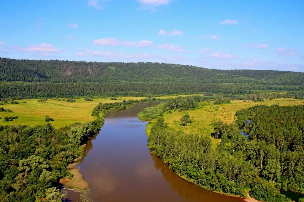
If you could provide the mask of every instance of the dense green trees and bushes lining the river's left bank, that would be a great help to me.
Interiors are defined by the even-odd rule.
[[[59,179],[79,175],[75,169],[68,169],[73,167],[74,161],[83,157],[85,143],[102,127],[106,111],[156,100],[100,102],[91,111],[95,120],[57,129],[49,123],[34,127],[0,126],[0,201],[61,201]],[[50,121],[48,116],[45,119]]]

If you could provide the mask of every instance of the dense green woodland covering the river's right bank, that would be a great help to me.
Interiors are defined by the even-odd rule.
[[[189,101],[186,106],[195,108],[193,98],[179,98],[173,105],[146,108],[139,117],[155,119],[164,111],[183,110],[182,103]],[[159,117],[149,147],[174,172],[210,190],[246,197],[250,189],[252,197],[263,201],[291,201],[280,191],[304,194],[304,106],[262,105],[236,116],[232,124],[213,123],[212,136],[221,140],[216,149],[210,136],[176,131]]]

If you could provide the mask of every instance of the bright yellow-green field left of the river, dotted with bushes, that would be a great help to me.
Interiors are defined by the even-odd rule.
[[[187,95],[182,95],[187,96]],[[163,96],[161,99],[176,97]],[[49,122],[54,127],[64,127],[75,122],[93,121],[94,116],[91,116],[93,108],[99,103],[105,102],[121,102],[123,99],[143,99],[144,97],[118,97],[118,100],[110,98],[98,98],[94,101],[85,101],[84,99],[75,99],[75,102],[58,101],[56,99],[48,99],[44,102],[38,100],[19,100],[19,104],[4,104],[1,107],[10,109],[13,113],[0,112],[0,125],[29,125],[36,126],[46,124],[44,117],[49,115],[54,121]],[[26,103],[24,103],[26,102]],[[18,116],[13,121],[3,121],[5,116]]]

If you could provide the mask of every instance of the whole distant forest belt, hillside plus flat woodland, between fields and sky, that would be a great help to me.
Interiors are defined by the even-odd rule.
[[[304,91],[304,74],[216,70],[165,63],[15,60],[0,58],[0,97],[161,95]],[[303,93],[302,93],[303,94]]]

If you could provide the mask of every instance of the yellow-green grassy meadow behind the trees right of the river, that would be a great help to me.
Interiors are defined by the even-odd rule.
[[[268,105],[278,104],[280,106],[286,105],[300,105],[304,104],[303,100],[296,100],[293,98],[277,98],[268,99],[260,102],[242,100],[233,100],[229,104],[213,104],[211,101],[210,105],[201,106],[199,109],[194,109],[187,111],[190,117],[193,118],[193,122],[187,126],[180,125],[180,118],[184,111],[173,111],[173,113],[165,113],[163,118],[166,123],[176,130],[183,130],[187,134],[206,134],[210,135],[213,132],[213,126],[211,125],[213,120],[222,120],[228,124],[232,123],[237,117],[235,113],[242,108],[249,108],[255,105]],[[201,104],[202,105],[202,104]],[[148,124],[146,128],[146,133],[150,133],[152,124]],[[212,143],[214,146],[218,143],[219,139],[212,137]]]

